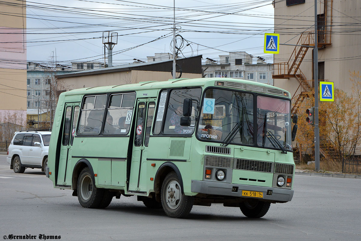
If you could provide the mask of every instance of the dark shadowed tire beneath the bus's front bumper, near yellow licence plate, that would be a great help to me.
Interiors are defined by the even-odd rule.
[[[246,201],[239,203],[239,208],[244,216],[247,216],[248,218],[261,218],[265,216],[270,206],[270,202],[264,202],[253,198],[249,198]]]

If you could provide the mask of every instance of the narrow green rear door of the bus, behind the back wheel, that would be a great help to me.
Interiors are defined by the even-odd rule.
[[[75,135],[75,126],[79,116],[80,103],[66,103],[64,111],[64,123],[60,146],[60,158],[58,165],[57,186],[71,186],[73,170],[68,168],[71,161],[71,152]]]

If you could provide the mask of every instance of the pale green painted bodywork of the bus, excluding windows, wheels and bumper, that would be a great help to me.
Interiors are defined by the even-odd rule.
[[[273,89],[279,89],[277,87],[268,86],[262,83],[243,81],[237,79],[227,78],[200,78],[200,79],[182,79],[182,80],[169,80],[163,82],[143,82],[131,85],[120,85],[120,86],[104,86],[94,88],[83,88],[77,90],[71,90],[64,92],[60,95],[57,109],[55,112],[55,120],[52,129],[51,141],[49,146],[49,159],[48,167],[52,174],[49,178],[53,181],[54,187],[62,188],[59,185],[71,185],[72,189],[76,188],[76,184],[71,184],[71,176],[75,164],[81,157],[87,159],[94,173],[97,174],[95,177],[96,186],[98,188],[109,188],[109,189],[124,189],[127,190],[127,164],[130,166],[129,176],[129,190],[145,191],[147,194],[154,191],[154,181],[151,178],[155,178],[158,168],[165,163],[167,160],[173,162],[179,169],[182,180],[184,194],[196,195],[197,193],[191,192],[191,180],[204,180],[204,156],[224,156],[231,158],[249,159],[249,160],[260,160],[265,162],[277,162],[292,164],[293,155],[292,152],[287,154],[281,154],[279,150],[268,150],[249,146],[235,146],[229,145],[231,154],[214,154],[205,152],[206,146],[220,146],[219,143],[211,143],[205,141],[199,141],[195,134],[191,137],[169,137],[169,136],[150,136],[148,147],[135,147],[134,143],[130,143],[130,133],[125,137],[85,137],[75,136],[73,146],[69,149],[68,154],[68,166],[66,168],[66,181],[64,183],[57,183],[56,176],[61,176],[64,179],[64,173],[58,171],[64,167],[64,158],[66,158],[65,151],[57,149],[57,145],[61,145],[61,132],[62,132],[62,119],[64,116],[65,103],[81,102],[85,94],[97,94],[107,92],[123,92],[123,91],[135,91],[136,99],[156,99],[161,89],[165,88],[182,88],[184,86],[201,86],[202,91],[207,87],[214,86],[216,81],[232,81],[239,83],[247,83],[256,86],[271,87]],[[283,90],[284,91],[284,90]],[[284,91],[284,93],[289,92]],[[136,103],[134,110],[136,110]],[[135,112],[133,111],[133,118],[135,118]],[[155,113],[156,115],[156,113]],[[131,129],[135,128],[134,122],[132,121]],[[132,147],[132,152],[128,154],[129,145]],[[243,149],[242,149],[243,147]],[[74,157],[72,157],[74,156]],[[92,157],[92,158],[90,158]],[[130,158],[131,157],[131,158]],[[110,160],[98,160],[98,159],[110,159]],[[126,160],[111,160],[111,158],[127,158]],[[130,160],[131,159],[131,160]],[[147,160],[148,159],[148,160]],[[157,160],[149,160],[157,159]],[[165,160],[162,160],[165,159]],[[182,161],[175,161],[175,160]],[[56,167],[56,163],[59,162],[59,166]],[[131,164],[129,165],[129,162]],[[155,163],[155,167],[151,164]],[[140,168],[139,168],[140,166]],[[140,175],[139,175],[140,173]],[[293,173],[294,174],[294,173]],[[58,177],[58,179],[61,177]],[[138,184],[139,177],[139,187]],[[240,177],[247,179],[265,180],[265,182],[258,181],[242,181]],[[255,186],[272,186],[273,173],[265,172],[254,172],[233,169],[232,183],[234,184],[246,184]],[[293,185],[293,182],[292,182]]]

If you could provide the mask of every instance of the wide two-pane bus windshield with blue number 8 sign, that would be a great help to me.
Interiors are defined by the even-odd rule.
[[[206,90],[203,98],[199,139],[291,150],[289,100],[262,95],[255,99],[251,93],[213,88]]]

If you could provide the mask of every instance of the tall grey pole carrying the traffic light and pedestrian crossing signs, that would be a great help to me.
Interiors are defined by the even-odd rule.
[[[315,0],[315,46],[313,48],[313,76],[315,91],[315,171],[319,171],[319,127],[318,127],[318,39],[317,39],[317,0]]]

